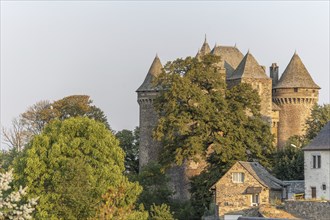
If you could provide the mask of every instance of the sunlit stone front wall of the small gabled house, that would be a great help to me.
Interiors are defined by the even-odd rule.
[[[233,183],[232,173],[244,173],[244,183]],[[261,185],[249,172],[239,163],[236,163],[221,179],[216,183],[215,201],[218,206],[219,216],[225,213],[233,213],[252,208],[251,195],[246,194],[247,187],[262,187],[259,194],[260,204],[269,202],[269,190]]]

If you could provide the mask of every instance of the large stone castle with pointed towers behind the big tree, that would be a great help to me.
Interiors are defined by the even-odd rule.
[[[304,134],[305,121],[318,101],[320,87],[313,81],[297,53],[292,56],[280,79],[276,63],[270,66],[268,77],[266,68],[259,65],[250,52],[243,56],[236,46],[215,45],[211,50],[205,38],[196,57],[206,54],[222,58],[220,74],[226,77],[228,88],[248,83],[258,92],[261,115],[270,123],[278,148],[282,148],[289,137]],[[162,149],[161,144],[152,138],[152,130],[158,120],[153,101],[159,92],[152,85],[152,80],[162,72],[162,68],[156,56],[144,82],[136,91],[140,106],[140,169],[150,161],[157,160]],[[169,170],[170,182],[176,191],[175,198],[189,198],[189,177],[198,175],[204,166],[189,162]]]

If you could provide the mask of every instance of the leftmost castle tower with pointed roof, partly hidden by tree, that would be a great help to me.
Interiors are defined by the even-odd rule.
[[[152,131],[157,124],[158,116],[153,101],[159,90],[152,81],[162,72],[162,64],[156,55],[142,85],[136,90],[140,105],[140,146],[139,169],[150,161],[156,161],[161,150],[161,144],[152,138]]]

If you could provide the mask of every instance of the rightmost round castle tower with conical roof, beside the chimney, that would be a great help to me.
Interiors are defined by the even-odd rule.
[[[318,101],[319,89],[295,53],[279,82],[273,87],[273,101],[281,109],[278,125],[279,147],[283,147],[289,137],[305,133],[306,119]]]

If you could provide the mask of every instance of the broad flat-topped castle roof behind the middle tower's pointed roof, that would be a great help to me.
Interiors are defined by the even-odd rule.
[[[225,63],[227,78],[232,75],[239,63],[243,59],[243,54],[236,47],[215,45],[212,54],[221,56]]]

